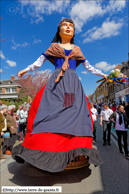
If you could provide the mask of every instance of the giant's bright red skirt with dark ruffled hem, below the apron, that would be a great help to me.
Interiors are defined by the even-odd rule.
[[[12,150],[12,157],[19,163],[27,161],[42,170],[50,172],[62,171],[80,154],[89,156],[89,163],[100,165],[102,160],[99,158],[98,151],[92,149],[92,137],[77,137],[61,133],[36,133],[31,135],[33,122],[44,89],[45,86],[33,100],[29,111],[25,139],[22,144]],[[91,116],[88,100],[87,104]]]

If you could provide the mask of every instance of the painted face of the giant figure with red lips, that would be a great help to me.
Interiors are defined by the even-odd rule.
[[[61,39],[72,39],[74,36],[74,25],[70,22],[62,22],[60,27]]]

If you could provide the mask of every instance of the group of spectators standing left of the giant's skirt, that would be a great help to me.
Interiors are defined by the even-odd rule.
[[[3,152],[11,155],[16,140],[23,141],[31,103],[24,102],[15,112],[15,105],[6,106],[0,101],[0,159],[6,159]]]

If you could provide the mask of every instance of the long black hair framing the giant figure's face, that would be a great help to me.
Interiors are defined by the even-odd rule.
[[[71,24],[74,25],[74,35],[73,35],[73,38],[72,38],[71,41],[70,41],[71,44],[74,44],[75,24],[74,24],[73,20],[68,19],[68,18],[64,18],[63,20],[60,21],[60,23],[59,23],[59,25],[58,25],[58,28],[57,28],[57,33],[56,33],[55,37],[53,38],[52,43],[53,43],[53,42],[61,42],[61,37],[60,37],[59,32],[60,32],[60,28],[61,28],[62,22],[70,22]]]

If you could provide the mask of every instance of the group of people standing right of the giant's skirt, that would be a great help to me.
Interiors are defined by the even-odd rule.
[[[116,131],[118,139],[119,152],[124,154],[126,159],[129,159],[128,154],[128,129],[129,129],[129,102],[120,101],[116,106],[116,103],[99,103],[94,104],[90,102],[90,108],[93,118],[93,141],[96,142],[96,120],[98,114],[100,114],[100,125],[103,127],[103,146],[107,144],[111,146],[111,127]],[[98,114],[94,109],[97,109]],[[122,139],[123,139],[123,148],[122,148]],[[124,152],[123,152],[124,149]]]

